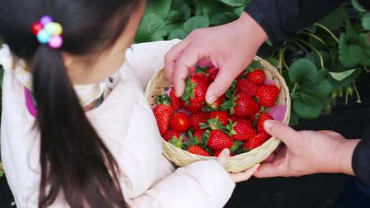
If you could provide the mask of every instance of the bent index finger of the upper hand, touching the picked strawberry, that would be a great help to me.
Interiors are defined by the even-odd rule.
[[[176,96],[182,96],[185,89],[184,79],[188,77],[189,71],[198,60],[204,57],[204,49],[201,47],[187,47],[182,54],[177,57],[175,68],[173,69],[173,83],[175,85]]]

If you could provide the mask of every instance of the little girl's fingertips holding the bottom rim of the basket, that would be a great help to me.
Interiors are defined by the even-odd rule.
[[[226,166],[227,159],[230,157],[230,150],[228,148],[225,148],[217,158],[217,161],[219,161],[219,164],[221,166]],[[252,168],[249,168],[248,170],[245,170],[245,172],[238,172],[238,173],[230,173],[230,177],[235,183],[241,182],[241,181],[247,181],[253,174],[256,172],[257,168],[260,165],[253,166]]]

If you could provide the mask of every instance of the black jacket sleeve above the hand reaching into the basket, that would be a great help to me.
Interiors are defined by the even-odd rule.
[[[252,0],[245,8],[277,46],[338,8],[344,0]]]

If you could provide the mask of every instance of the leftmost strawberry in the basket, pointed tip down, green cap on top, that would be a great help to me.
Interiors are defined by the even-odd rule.
[[[160,135],[164,135],[167,129],[169,129],[173,108],[171,107],[171,101],[167,94],[157,96],[156,103],[158,105],[153,109],[153,114],[156,117]]]

